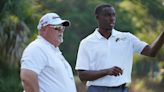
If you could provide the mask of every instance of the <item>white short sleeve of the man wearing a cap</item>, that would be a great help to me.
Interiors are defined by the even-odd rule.
[[[46,66],[46,55],[37,46],[27,47],[21,58],[21,69],[29,69],[40,74]]]

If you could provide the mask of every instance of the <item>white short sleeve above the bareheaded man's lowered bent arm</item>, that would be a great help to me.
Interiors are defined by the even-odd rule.
[[[89,70],[89,53],[87,52],[87,46],[82,41],[79,45],[77,60],[76,60],[76,70]]]

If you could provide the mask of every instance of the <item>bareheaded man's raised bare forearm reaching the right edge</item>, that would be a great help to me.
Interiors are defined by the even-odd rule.
[[[142,55],[155,57],[164,43],[164,32],[162,32],[158,38],[151,44],[147,45],[141,52]]]

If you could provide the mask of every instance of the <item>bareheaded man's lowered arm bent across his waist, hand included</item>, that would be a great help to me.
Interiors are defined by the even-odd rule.
[[[106,75],[119,76],[122,75],[123,71],[119,67],[112,67],[103,70],[78,70],[81,81],[93,81]]]

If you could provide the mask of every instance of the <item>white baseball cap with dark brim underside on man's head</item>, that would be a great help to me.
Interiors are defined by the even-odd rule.
[[[70,21],[62,20],[60,16],[56,13],[47,13],[41,17],[37,28],[38,30],[40,30],[42,27],[47,26],[48,24],[52,24],[52,25],[62,24],[63,26],[67,27],[70,25]]]

